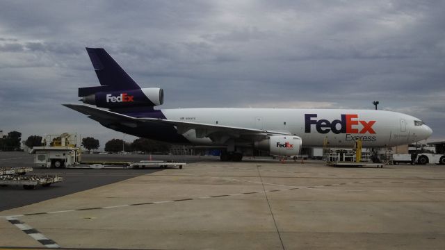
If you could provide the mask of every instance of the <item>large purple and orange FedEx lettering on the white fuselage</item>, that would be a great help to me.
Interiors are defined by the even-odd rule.
[[[341,115],[341,119],[334,119],[330,122],[327,119],[314,119],[317,114],[305,114],[305,133],[311,133],[312,125],[315,125],[318,133],[370,133],[375,134],[373,125],[376,121],[360,120],[358,115]]]

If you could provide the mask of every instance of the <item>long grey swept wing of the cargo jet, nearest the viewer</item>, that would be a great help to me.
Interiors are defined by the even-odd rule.
[[[176,126],[178,133],[184,134],[191,129],[195,130],[197,138],[209,137],[213,141],[223,141],[229,138],[239,138],[241,136],[267,136],[267,135],[290,135],[289,132],[282,131],[266,131],[264,129],[243,128],[238,126],[225,126],[219,124],[204,124],[198,122],[184,122],[171,119],[159,118],[137,118],[129,115],[103,110],[91,106],[79,104],[63,104],[67,108],[71,108],[80,113],[88,115],[91,119],[101,123],[122,124],[124,126],[136,127],[140,123],[152,123]]]

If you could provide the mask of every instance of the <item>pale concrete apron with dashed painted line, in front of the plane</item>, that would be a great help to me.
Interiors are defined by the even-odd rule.
[[[444,249],[444,205],[445,166],[200,159],[4,210],[0,246]]]

